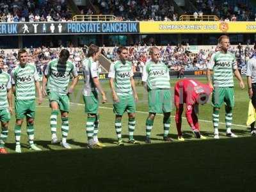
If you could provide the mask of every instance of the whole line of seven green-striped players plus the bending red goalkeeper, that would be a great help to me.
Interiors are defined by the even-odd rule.
[[[195,138],[205,139],[200,134],[198,117],[196,115],[198,104],[205,104],[212,92],[212,122],[214,125],[214,138],[219,138],[218,122],[220,107],[225,102],[225,120],[227,127],[227,136],[237,137],[231,132],[232,108],[234,107],[234,75],[239,80],[241,88],[244,88],[243,80],[237,70],[236,58],[228,52],[230,46],[228,36],[220,36],[218,40],[220,51],[212,55],[211,61],[207,67],[208,84],[200,83],[194,79],[182,79],[175,84],[175,122],[177,125],[178,140],[184,141],[182,137],[182,111],[186,104],[186,118],[191,127]],[[136,119],[136,102],[138,95],[134,84],[131,63],[128,59],[128,50],[126,47],[118,48],[119,59],[111,64],[109,70],[109,86],[113,96],[113,111],[115,113],[115,130],[118,138],[118,146],[124,145],[122,140],[122,116],[125,111],[128,114],[128,143],[140,144],[133,137]],[[159,49],[152,47],[149,52],[151,60],[143,68],[142,81],[148,92],[148,117],[146,120],[146,138],[145,143],[151,143],[150,132],[154,124],[154,118],[157,113],[163,113],[163,140],[172,141],[168,137],[170,129],[171,113],[171,92],[169,70],[160,61]],[[0,118],[2,132],[0,136],[0,152],[6,153],[4,141],[8,136],[8,122],[13,113],[12,92],[15,95],[15,141],[16,152],[21,152],[20,133],[24,117],[26,117],[29,146],[32,150],[41,150],[34,143],[34,119],[35,119],[35,90],[38,94],[38,104],[42,103],[42,98],[48,96],[49,104],[52,109],[50,117],[52,143],[58,143],[56,135],[57,118],[61,114],[61,145],[64,148],[71,148],[67,143],[69,131],[68,111],[69,97],[78,82],[76,67],[70,61],[69,52],[63,49],[58,59],[49,62],[45,69],[42,90],[40,88],[39,77],[35,65],[27,63],[28,54],[26,50],[20,49],[19,66],[12,70],[11,77],[0,69]],[[102,103],[106,102],[106,94],[99,81],[99,70],[97,60],[99,60],[100,49],[97,45],[90,45],[87,58],[83,60],[84,76],[84,111],[87,113],[87,122],[85,125],[88,137],[88,148],[102,148],[104,144],[100,143],[97,134],[99,131],[99,93],[102,95]],[[0,68],[3,68],[3,58],[0,57]],[[213,70],[213,78],[211,71]],[[70,76],[72,74],[72,83],[68,87]],[[212,84],[213,83],[213,84]]]

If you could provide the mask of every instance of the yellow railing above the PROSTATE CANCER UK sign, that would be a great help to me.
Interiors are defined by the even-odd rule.
[[[113,21],[114,15],[75,15],[73,21]]]

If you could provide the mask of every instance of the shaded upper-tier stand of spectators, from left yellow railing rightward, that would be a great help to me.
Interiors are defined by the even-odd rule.
[[[255,8],[250,1],[243,0],[190,0],[184,6],[175,1],[163,0],[93,0],[93,6],[83,11],[88,15],[96,14],[115,15],[119,20],[179,20],[180,15],[216,15],[220,20],[248,21],[255,20]],[[82,15],[83,15],[82,14]]]

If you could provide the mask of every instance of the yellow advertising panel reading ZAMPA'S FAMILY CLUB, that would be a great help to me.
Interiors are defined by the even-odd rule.
[[[141,21],[140,33],[256,33],[256,22]]]

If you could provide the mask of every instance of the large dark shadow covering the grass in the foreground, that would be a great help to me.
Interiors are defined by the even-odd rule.
[[[244,137],[7,154],[0,191],[250,191],[255,147]]]

